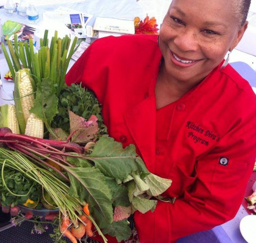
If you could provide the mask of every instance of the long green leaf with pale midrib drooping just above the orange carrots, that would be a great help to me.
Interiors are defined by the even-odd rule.
[[[67,167],[70,179],[69,194],[86,201],[98,211],[99,219],[111,224],[113,208],[105,176],[94,167]],[[95,215],[94,215],[95,216]]]

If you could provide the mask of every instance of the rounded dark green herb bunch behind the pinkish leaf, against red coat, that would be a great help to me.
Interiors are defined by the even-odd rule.
[[[88,120],[91,115],[95,115],[98,118],[98,135],[107,133],[107,128],[103,124],[101,115],[101,105],[94,93],[82,88],[80,84],[72,84],[61,91],[58,103],[58,114],[54,117],[51,124],[53,128],[61,127],[69,134],[68,111],[72,111],[86,120]]]

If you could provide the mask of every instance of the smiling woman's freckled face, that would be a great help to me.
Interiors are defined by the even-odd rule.
[[[233,0],[173,0],[159,34],[170,77],[198,82],[238,44],[247,23],[239,26]]]

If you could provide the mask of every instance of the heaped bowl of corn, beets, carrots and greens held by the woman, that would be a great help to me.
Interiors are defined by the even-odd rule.
[[[127,240],[127,218],[136,210],[154,211],[152,199],[161,200],[172,181],[150,173],[135,146],[123,148],[107,135],[92,92],[65,86],[76,40],[69,54],[68,37],[56,34],[49,48],[47,31],[38,53],[32,43],[16,40],[14,48],[8,43],[11,58],[3,46],[15,77],[15,105],[0,107],[3,207],[18,205],[27,218],[54,215],[54,239],[99,234],[106,242],[108,234]]]

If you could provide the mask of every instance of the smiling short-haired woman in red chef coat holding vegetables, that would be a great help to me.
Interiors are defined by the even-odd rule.
[[[173,204],[135,213],[140,242],[175,242],[240,207],[256,157],[256,98],[223,58],[247,28],[249,5],[173,0],[159,36],[101,38],[66,76],[93,90],[110,136],[173,180],[162,195]]]

